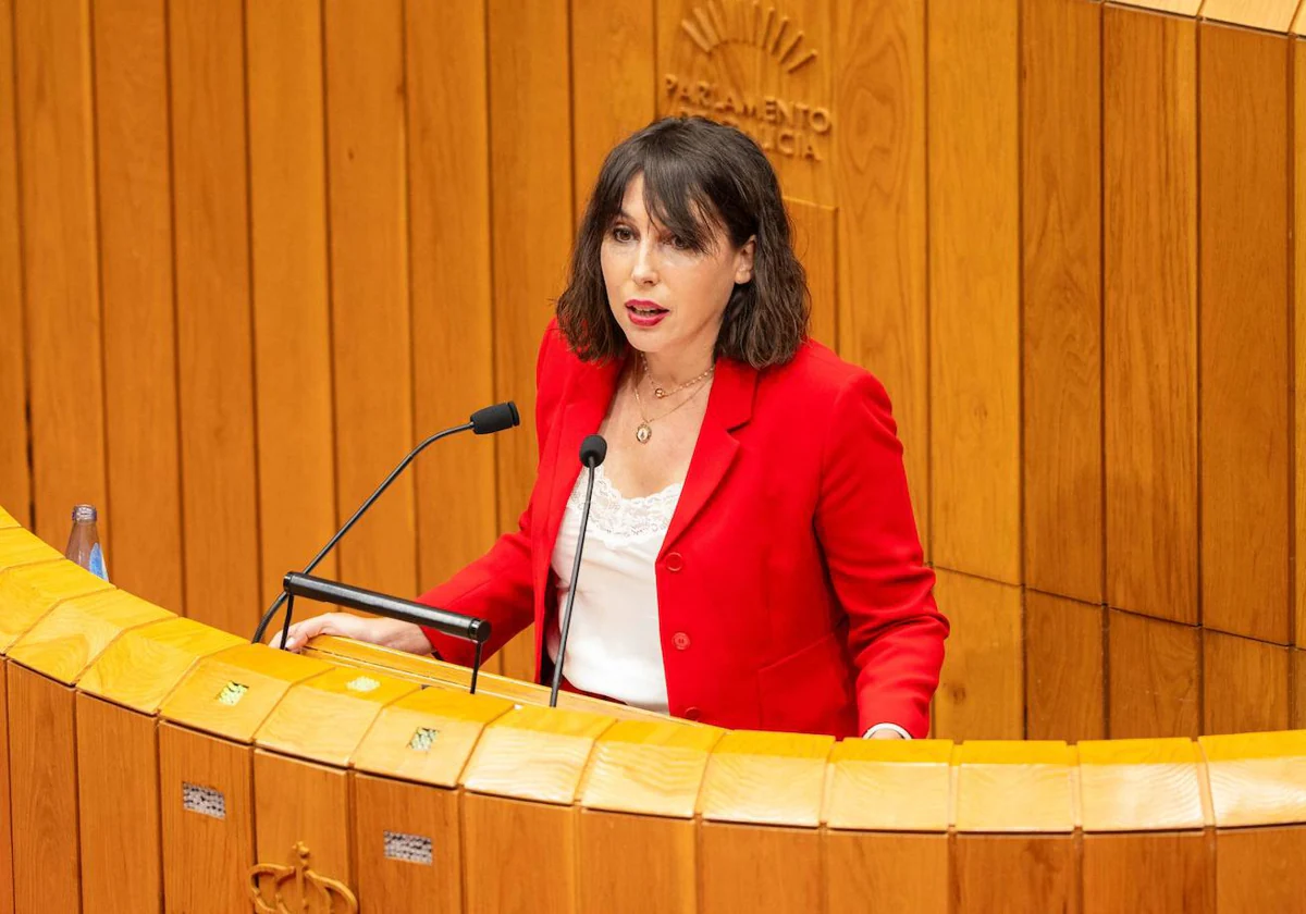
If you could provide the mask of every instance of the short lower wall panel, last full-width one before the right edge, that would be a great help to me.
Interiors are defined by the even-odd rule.
[[[1288,648],[1205,629],[1202,650],[1202,733],[1288,729]]]

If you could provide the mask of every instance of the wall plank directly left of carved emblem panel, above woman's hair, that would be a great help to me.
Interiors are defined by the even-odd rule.
[[[572,158],[576,218],[607,150],[656,116],[653,0],[573,0]]]

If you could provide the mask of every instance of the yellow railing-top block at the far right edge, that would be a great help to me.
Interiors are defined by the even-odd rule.
[[[1200,736],[1216,825],[1306,823],[1306,730]]]

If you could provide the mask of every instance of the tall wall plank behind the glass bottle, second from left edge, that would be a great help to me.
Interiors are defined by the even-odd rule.
[[[107,492],[90,9],[17,0],[13,22],[33,520],[63,544],[72,507],[103,508]],[[101,517],[112,561],[108,512]]]

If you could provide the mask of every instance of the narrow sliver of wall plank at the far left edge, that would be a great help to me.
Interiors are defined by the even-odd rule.
[[[31,525],[27,466],[27,353],[22,320],[18,124],[14,114],[13,4],[0,0],[0,504]],[[0,911],[4,911],[0,893]]]

